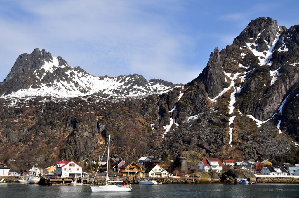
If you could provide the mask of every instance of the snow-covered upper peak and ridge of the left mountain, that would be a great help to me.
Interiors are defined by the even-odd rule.
[[[16,87],[7,86],[16,84],[20,78],[30,81]],[[39,49],[31,54],[20,55],[3,84],[0,91],[3,99],[35,96],[74,98],[91,94],[127,98],[161,94],[179,86],[158,79],[147,82],[138,74],[93,76],[80,67],[69,66],[61,57],[53,57],[49,52]]]

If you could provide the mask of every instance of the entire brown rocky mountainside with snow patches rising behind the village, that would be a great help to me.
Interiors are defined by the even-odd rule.
[[[252,20],[186,85],[96,77],[45,50],[22,54],[0,83],[0,159],[97,158],[112,134],[122,157],[299,160],[298,32]]]

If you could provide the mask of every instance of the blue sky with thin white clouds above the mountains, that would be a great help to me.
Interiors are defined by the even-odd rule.
[[[299,1],[0,0],[0,81],[16,58],[45,49],[92,75],[138,73],[187,83],[215,47],[260,16],[299,24]]]

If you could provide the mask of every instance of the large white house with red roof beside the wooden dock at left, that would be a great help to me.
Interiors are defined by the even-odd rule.
[[[56,174],[60,177],[82,177],[82,167],[77,162],[71,161],[57,161]]]

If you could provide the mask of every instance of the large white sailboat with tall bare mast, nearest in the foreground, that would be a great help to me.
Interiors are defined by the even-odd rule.
[[[108,168],[109,168],[109,149],[110,149],[110,135],[108,140],[108,157],[107,157],[107,171],[106,171],[106,184],[105,185],[93,185],[94,180],[92,181],[90,187],[92,192],[131,192],[131,185],[121,185],[122,181],[110,181],[108,177]],[[97,169],[97,171],[99,168]],[[94,177],[95,178],[95,177]],[[116,184],[114,184],[116,183]]]

